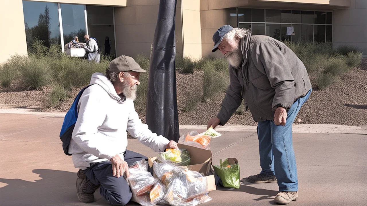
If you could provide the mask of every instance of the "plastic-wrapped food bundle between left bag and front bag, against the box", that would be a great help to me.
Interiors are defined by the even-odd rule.
[[[168,188],[172,181],[178,177],[178,175],[188,170],[187,166],[175,166],[167,162],[155,162],[153,169],[157,178]]]

